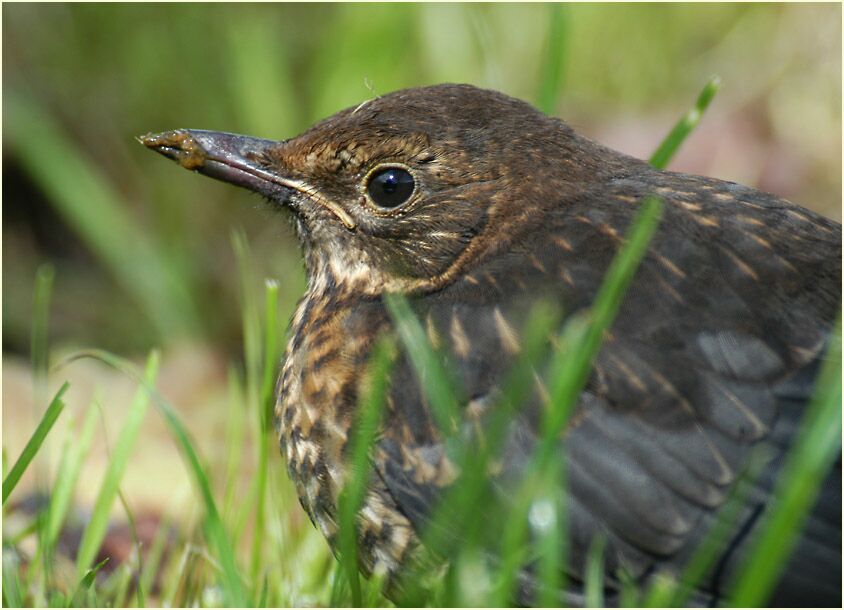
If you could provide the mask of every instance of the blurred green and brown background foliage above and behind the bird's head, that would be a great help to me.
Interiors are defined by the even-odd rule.
[[[470,82],[649,154],[713,74],[723,89],[673,169],[840,218],[841,7],[677,4],[4,4],[3,349],[240,346],[231,231],[255,282],[304,288],[283,219],[134,140],[195,127],[287,138],[373,95]],[[549,27],[552,24],[553,27]],[[549,40],[553,32],[553,40]],[[549,85],[550,83],[550,85]],[[255,207],[259,209],[256,211]]]

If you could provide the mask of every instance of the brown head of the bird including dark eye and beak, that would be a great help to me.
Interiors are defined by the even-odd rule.
[[[141,142],[291,209],[312,289],[368,294],[443,285],[599,167],[562,121],[468,85],[378,97],[289,140],[177,130]]]

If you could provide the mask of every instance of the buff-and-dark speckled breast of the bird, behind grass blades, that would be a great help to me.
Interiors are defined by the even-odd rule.
[[[359,384],[386,324],[380,303],[342,294],[307,294],[291,322],[276,403],[279,442],[302,506],[335,551],[337,498],[346,483],[345,449]],[[396,572],[415,546],[410,522],[377,477],[358,527],[366,572]]]

